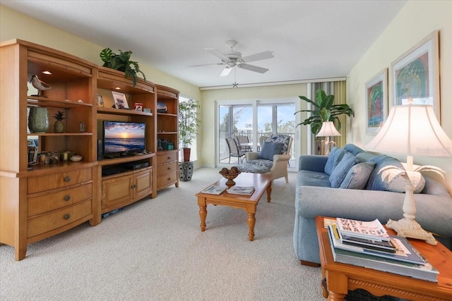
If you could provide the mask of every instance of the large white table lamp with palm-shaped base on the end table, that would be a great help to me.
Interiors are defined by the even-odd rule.
[[[398,221],[390,219],[386,226],[405,238],[426,240],[429,244],[436,245],[432,233],[424,231],[415,221],[416,207],[412,184],[412,179],[420,176],[420,171],[435,171],[444,178],[444,171],[435,166],[420,166],[413,170],[412,156],[452,156],[452,140],[439,125],[433,106],[414,105],[412,99],[408,105],[393,106],[383,128],[364,148],[375,152],[407,155],[407,163],[403,164],[405,171],[400,170],[400,175],[406,182],[404,217]]]

